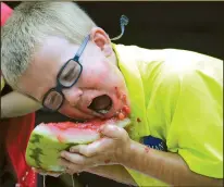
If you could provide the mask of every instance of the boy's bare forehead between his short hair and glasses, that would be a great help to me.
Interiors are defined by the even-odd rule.
[[[49,37],[34,54],[33,62],[20,79],[27,95],[41,99],[55,86],[57,75],[61,66],[73,58],[78,46],[60,37]]]

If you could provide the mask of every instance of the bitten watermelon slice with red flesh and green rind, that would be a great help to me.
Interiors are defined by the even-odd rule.
[[[99,139],[99,128],[104,124],[126,127],[130,124],[130,120],[126,117],[124,120],[95,120],[87,123],[39,124],[33,130],[27,145],[27,164],[45,171],[64,172],[64,167],[60,166],[58,161],[60,152],[72,146],[86,145]]]

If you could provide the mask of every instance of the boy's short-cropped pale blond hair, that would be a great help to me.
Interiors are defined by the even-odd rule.
[[[48,36],[80,43],[96,26],[74,2],[22,2],[1,30],[1,70],[5,82],[17,89],[35,51]]]

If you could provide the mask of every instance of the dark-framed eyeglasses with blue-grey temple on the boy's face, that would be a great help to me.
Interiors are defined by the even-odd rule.
[[[70,59],[60,70],[57,75],[57,86],[51,88],[42,99],[42,105],[50,111],[58,111],[64,102],[64,94],[62,89],[73,87],[80,77],[83,72],[83,65],[79,63],[79,58],[89,41],[90,36],[88,35],[75,57]]]

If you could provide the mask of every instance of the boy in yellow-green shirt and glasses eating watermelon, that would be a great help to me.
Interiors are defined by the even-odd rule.
[[[2,30],[2,73],[14,89],[88,123],[132,120],[60,152],[70,174],[222,186],[222,70],[221,60],[192,51],[112,43],[73,2],[23,2]]]

